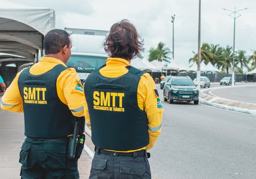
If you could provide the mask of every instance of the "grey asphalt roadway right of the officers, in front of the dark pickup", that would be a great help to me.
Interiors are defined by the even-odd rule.
[[[256,179],[256,117],[193,102],[163,102],[151,153],[154,179]]]

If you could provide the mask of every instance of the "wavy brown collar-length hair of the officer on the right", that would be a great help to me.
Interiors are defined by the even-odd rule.
[[[136,27],[123,19],[110,28],[110,33],[104,42],[104,49],[110,57],[132,60],[141,55],[143,42]]]

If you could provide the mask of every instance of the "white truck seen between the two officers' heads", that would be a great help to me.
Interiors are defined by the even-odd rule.
[[[74,28],[65,30],[70,34],[73,46],[66,65],[75,68],[80,80],[84,81],[89,73],[106,63],[107,53],[103,43],[109,31]]]

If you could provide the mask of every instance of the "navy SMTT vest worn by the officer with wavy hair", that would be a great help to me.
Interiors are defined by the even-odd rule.
[[[102,149],[127,151],[149,144],[147,116],[137,102],[138,83],[144,72],[126,68],[128,73],[117,78],[103,77],[98,68],[84,84],[92,141]]]

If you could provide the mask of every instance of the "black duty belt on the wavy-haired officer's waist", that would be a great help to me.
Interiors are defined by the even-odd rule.
[[[145,156],[146,158],[150,158],[150,153],[148,153],[146,151],[146,149],[145,150],[135,151],[135,152],[112,152],[112,151],[108,151],[108,150],[104,150],[104,149],[100,149],[98,147],[95,147],[94,151],[97,154],[104,153],[104,154],[109,154],[109,155],[111,155],[113,157],[128,156],[128,157],[136,158],[136,157],[139,157],[139,156]]]

